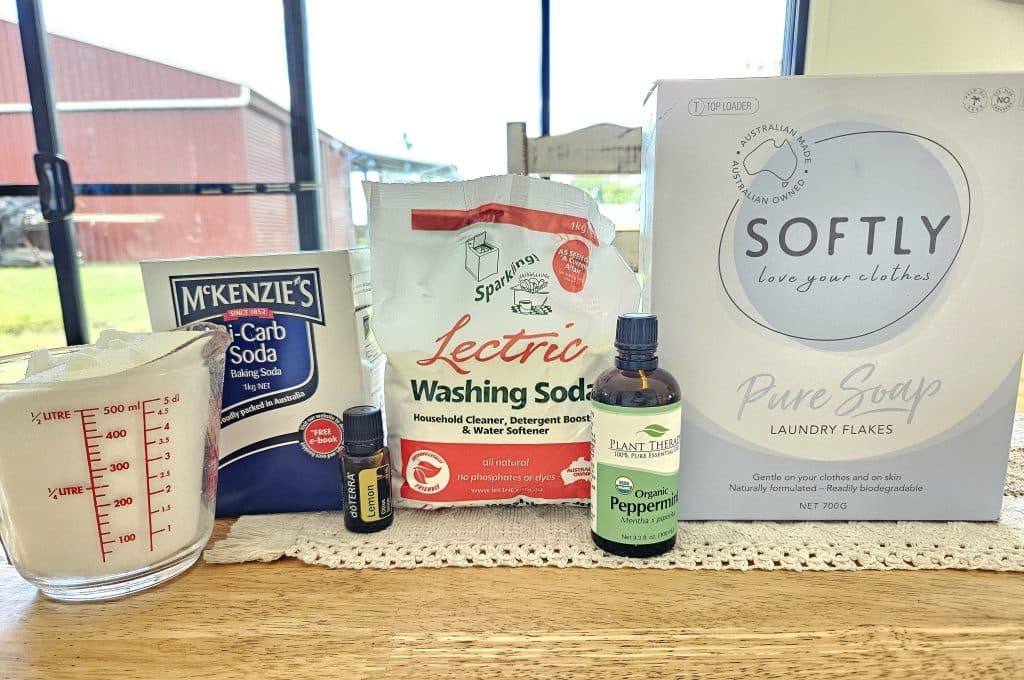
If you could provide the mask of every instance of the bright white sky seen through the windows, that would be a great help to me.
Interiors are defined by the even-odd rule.
[[[317,126],[364,151],[504,172],[539,134],[540,0],[307,0]],[[778,73],[785,0],[551,0],[552,133],[636,126],[656,79]],[[280,0],[43,0],[70,38],[249,85],[287,105]],[[0,18],[16,20],[13,0]]]

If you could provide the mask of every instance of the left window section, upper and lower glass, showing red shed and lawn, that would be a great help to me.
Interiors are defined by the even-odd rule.
[[[7,83],[0,131],[7,158],[19,165],[4,168],[2,181],[34,184],[36,139],[13,5],[0,6],[3,44],[16,50],[0,66]],[[196,0],[42,6],[62,152],[76,183],[291,182],[280,1],[249,2],[244,15],[232,3]],[[347,186],[347,171],[337,178]],[[148,330],[138,260],[298,245],[290,196],[105,194],[80,193],[73,215],[93,337],[112,326]],[[17,201],[27,221],[35,202]],[[328,226],[334,237],[335,224]],[[345,227],[333,241],[347,238]],[[34,230],[45,257],[45,223],[36,219]],[[52,273],[0,270],[0,290],[13,289],[0,315],[3,351],[63,344]]]

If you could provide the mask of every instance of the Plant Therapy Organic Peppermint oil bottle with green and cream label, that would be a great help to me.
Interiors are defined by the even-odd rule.
[[[679,383],[657,368],[657,317],[622,314],[615,368],[594,381],[590,524],[599,548],[650,557],[676,545]]]

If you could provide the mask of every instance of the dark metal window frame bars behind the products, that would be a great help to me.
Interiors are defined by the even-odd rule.
[[[782,40],[782,75],[803,75],[811,0],[786,0]],[[42,0],[16,0],[22,52],[36,135],[37,184],[0,184],[0,196],[38,196],[46,218],[57,294],[69,345],[89,342],[82,294],[75,225],[70,215],[76,196],[225,196],[291,195],[296,201],[300,250],[321,250],[321,162],[317,128],[309,85],[309,41],[305,0],[282,0],[288,59],[290,128],[294,177],[282,182],[218,183],[72,183],[60,156],[60,134],[47,47]],[[551,0],[541,0],[541,136],[551,121]]]

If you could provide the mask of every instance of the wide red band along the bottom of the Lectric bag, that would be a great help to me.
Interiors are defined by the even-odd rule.
[[[590,442],[401,440],[401,498],[427,503],[590,498]]]

